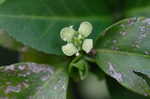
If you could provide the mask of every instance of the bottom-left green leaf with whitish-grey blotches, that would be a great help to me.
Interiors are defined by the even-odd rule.
[[[66,99],[68,76],[48,65],[19,63],[0,67],[0,98]]]

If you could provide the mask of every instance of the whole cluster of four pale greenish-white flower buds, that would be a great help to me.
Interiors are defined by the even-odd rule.
[[[60,37],[67,42],[62,46],[63,53],[67,56],[78,56],[81,50],[89,53],[93,48],[93,40],[87,37],[92,33],[92,29],[89,22],[82,22],[78,31],[74,30],[73,26],[63,28]]]

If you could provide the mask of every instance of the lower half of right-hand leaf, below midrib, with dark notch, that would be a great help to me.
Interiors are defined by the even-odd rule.
[[[142,95],[150,95],[150,86],[134,71],[149,69],[149,56],[125,52],[98,50],[97,63],[124,87]]]

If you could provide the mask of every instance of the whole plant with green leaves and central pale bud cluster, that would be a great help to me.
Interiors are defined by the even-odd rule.
[[[149,7],[127,0],[124,15],[145,17],[110,25],[105,1],[0,0],[0,45],[20,53],[20,63],[0,67],[0,99],[68,99],[69,78],[80,82],[91,68],[150,96]]]

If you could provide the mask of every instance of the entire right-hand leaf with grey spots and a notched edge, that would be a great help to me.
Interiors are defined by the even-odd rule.
[[[150,19],[125,19],[107,28],[97,39],[96,61],[121,85],[147,96],[149,81],[136,72],[150,69],[149,44]]]

